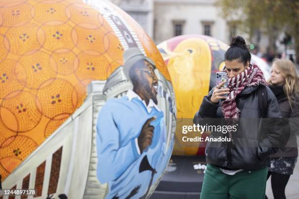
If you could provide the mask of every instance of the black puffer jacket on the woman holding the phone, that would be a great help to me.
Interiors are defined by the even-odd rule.
[[[271,126],[272,129],[267,130],[267,133],[259,131],[260,113],[256,92],[259,87],[247,87],[237,96],[236,105],[241,112],[237,132],[233,133],[234,147],[223,145],[222,142],[209,141],[205,151],[209,164],[226,169],[264,168],[269,166],[270,156],[278,150],[276,147],[286,144],[288,138],[285,138],[284,132],[289,131],[289,126],[281,121],[278,101],[268,87],[266,87],[268,108],[265,118],[273,118],[266,121],[266,125]],[[193,119],[194,123],[205,125],[211,118],[223,118],[220,102],[213,104],[210,101],[212,93],[213,89],[208,96],[204,97],[200,109]],[[221,120],[224,122],[224,119]],[[264,125],[264,121],[262,125]],[[222,132],[212,132],[210,138],[223,136]]]

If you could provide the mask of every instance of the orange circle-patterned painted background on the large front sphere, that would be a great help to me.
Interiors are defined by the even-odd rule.
[[[154,43],[118,11],[170,80]],[[82,0],[0,1],[0,173],[5,179],[123,64],[110,25]]]

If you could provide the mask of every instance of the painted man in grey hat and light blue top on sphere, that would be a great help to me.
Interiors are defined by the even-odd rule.
[[[108,182],[106,199],[145,198],[171,156],[171,150],[164,154],[166,129],[157,106],[155,65],[138,48],[125,51],[124,61],[133,90],[107,100],[97,121],[97,177]]]

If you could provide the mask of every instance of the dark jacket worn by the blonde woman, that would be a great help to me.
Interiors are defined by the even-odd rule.
[[[298,145],[296,135],[299,135],[299,96],[298,94],[291,96],[291,98],[294,100],[292,102],[291,109],[289,100],[284,94],[283,86],[270,86],[270,89],[274,92],[275,96],[277,97],[282,118],[289,118],[289,123],[291,127],[290,139],[288,140],[287,144],[285,145],[285,147],[279,148],[278,152],[271,156],[271,158],[298,157]]]

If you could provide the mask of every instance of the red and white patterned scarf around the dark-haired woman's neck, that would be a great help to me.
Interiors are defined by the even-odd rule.
[[[224,70],[225,71],[225,70]],[[227,80],[230,93],[226,100],[222,102],[222,113],[224,118],[238,120],[240,110],[236,107],[235,98],[244,90],[245,87],[257,86],[260,84],[268,85],[264,79],[263,72],[256,64],[250,64],[242,73]]]

